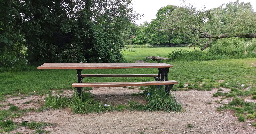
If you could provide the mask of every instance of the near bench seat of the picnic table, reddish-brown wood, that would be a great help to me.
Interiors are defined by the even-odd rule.
[[[151,86],[175,85],[176,81],[149,81],[149,82],[104,82],[104,83],[73,83],[72,87],[124,87],[124,86]]]

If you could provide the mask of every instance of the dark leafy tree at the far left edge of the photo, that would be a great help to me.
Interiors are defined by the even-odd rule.
[[[0,0],[0,69],[28,63],[21,52],[24,36],[19,26],[19,6],[17,0]]]

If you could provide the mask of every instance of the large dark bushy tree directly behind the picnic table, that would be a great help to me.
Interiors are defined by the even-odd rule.
[[[131,0],[23,0],[30,61],[120,62],[122,31],[139,15]]]

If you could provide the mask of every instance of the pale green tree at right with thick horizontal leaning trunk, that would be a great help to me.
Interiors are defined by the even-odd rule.
[[[203,43],[203,51],[221,38],[255,38],[255,22],[256,14],[251,4],[235,1],[211,10],[177,7],[164,19],[160,30],[184,33],[194,44]]]

